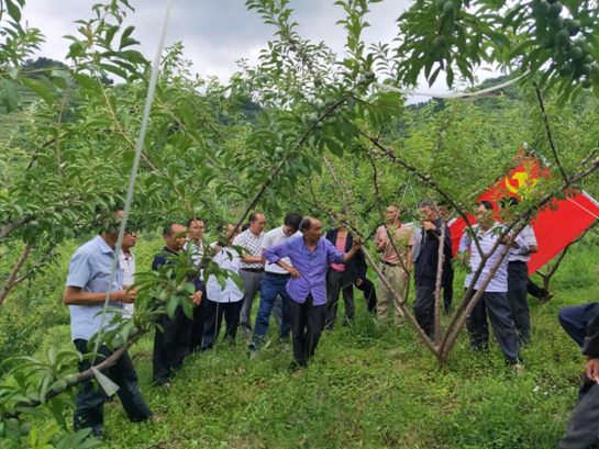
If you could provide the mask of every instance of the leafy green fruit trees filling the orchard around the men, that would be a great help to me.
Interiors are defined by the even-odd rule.
[[[213,224],[211,242],[229,242],[233,235],[219,235],[217,224],[233,222],[239,226],[260,210],[274,227],[287,211],[297,210],[319,216],[323,223],[343,224],[359,236],[373,279],[379,284],[386,281],[375,261],[374,235],[385,222],[388,204],[397,202],[408,211],[422,199],[433,199],[448,204],[454,217],[464,218],[472,231],[474,223],[467,217],[476,207],[478,194],[513,168],[521,148],[540,160],[547,175],[510,209],[501,238],[513,240],[540,211],[554,207],[555,200],[580,190],[599,194],[597,2],[417,0],[403,12],[398,9],[392,41],[367,45],[364,31],[369,26],[369,9],[381,1],[335,2],[344,14],[337,32],[346,36],[344,54],[336,55],[326,43],[315,44],[301,36],[290,0],[247,0],[245,7],[273,30],[273,40],[257,64],[242,59],[230,80],[202,78],[191,72],[185,43],[163,48],[149,116],[144,121],[153,65],[141,53],[135,29],[127,23],[135,14],[127,0],[93,4],[88,18],[64,32],[70,42],[64,64],[43,69],[27,68],[27,60],[45,37],[44,30],[27,27],[23,21],[26,0],[0,0],[0,117],[7,120],[10,117],[21,120],[0,142],[0,446],[4,441],[34,448],[101,445],[88,438],[89,431],[73,433],[67,424],[75,391],[90,378],[102,388],[96,371],[101,373],[113,366],[130,348],[145,348],[144,341],[154,335],[160,314],[173,316],[178,306],[192,314],[189,295],[195,290],[189,280],[197,276],[197,267],[189,254],[181,252],[174,265],[159,270],[138,268],[135,313],[132,317],[111,315],[114,326],[96,336],[95,345],[107,345],[114,351],[97,370],[77,371],[79,362],[97,355],[82,356],[68,346],[68,338],[42,346],[40,334],[33,334],[65,319],[68,312],[55,294],[64,288],[65,248],[71,250],[74,242],[101,233],[107,214],[126,202],[138,143],[141,159],[127,223],[140,229],[144,243],[149,242],[154,249],[159,249],[156,229],[166,217],[182,223],[187,217],[201,216]],[[501,72],[501,80],[479,86],[477,74],[481,68]],[[425,91],[439,80],[467,96],[410,104],[412,90]],[[491,93],[476,93],[493,88],[493,82],[508,83],[501,90],[491,89]],[[30,102],[32,96],[35,100]],[[142,128],[145,137],[138,142]],[[591,238],[594,233],[589,232],[583,242]],[[474,240],[479,245],[476,237]],[[568,256],[583,244],[576,245]],[[500,252],[499,262],[484,283],[491,281],[508,249],[496,245],[487,255],[489,259]],[[206,254],[200,268],[204,278],[215,276],[224,282],[228,271],[219,268],[213,256]],[[580,260],[597,262],[587,256]],[[574,258],[565,260],[565,272],[576,272],[567,267],[583,269]],[[588,263],[584,269],[589,269]],[[463,279],[466,267],[456,263],[456,270]],[[595,266],[590,268],[594,270]],[[456,372],[469,375],[476,367],[485,371],[487,367],[467,364],[469,356],[462,341],[466,338],[466,319],[482,293],[475,292],[472,301],[467,300],[481,271],[474,273],[474,281],[459,294],[458,306],[447,318],[440,316],[437,287],[435,319],[441,325],[433,339],[419,327],[404,302],[401,310],[411,326],[401,329],[398,340],[393,340],[391,330],[381,330],[364,318],[364,327],[356,330],[363,333],[362,344],[370,341],[373,353],[389,350],[389,346],[410,348],[410,357],[422,363],[415,368],[422,383],[433,383],[436,377],[447,380]],[[565,281],[557,281],[557,285],[562,283]],[[410,289],[408,282],[406,291],[396,294],[409,298]],[[553,327],[545,329],[547,339],[561,333],[555,316],[551,319]],[[375,341],[377,336],[379,343]],[[332,341],[335,338],[333,335]],[[237,349],[231,363],[247,363],[243,348]],[[569,361],[563,369],[569,368],[569,382],[576,384],[579,370],[570,349],[568,355],[555,349],[553,357]],[[143,358],[143,350],[140,353]],[[198,367],[202,360],[197,359]],[[229,363],[210,360],[220,368],[219,363]],[[555,374],[543,370],[545,362],[537,352],[531,360],[530,375],[535,380],[530,382]],[[354,362],[344,370],[358,366],[355,372],[362,370],[359,357]],[[229,374],[245,372],[245,364],[242,368],[224,366],[223,370]],[[367,371],[359,372],[362,380],[368,378]],[[313,375],[310,382],[318,382],[317,374],[307,374]],[[268,374],[255,371],[252,375]],[[279,386],[285,389],[284,384]],[[364,420],[369,414],[365,404],[379,397],[367,396],[366,390],[356,393],[358,416],[366,407]],[[543,416],[556,416],[555,408],[563,412],[564,404],[574,401],[572,394],[564,397],[552,404],[554,408],[547,406]],[[221,400],[226,402],[226,395]],[[333,415],[329,411],[326,416]],[[551,427],[543,445],[555,446],[561,438],[567,422],[567,417],[562,418],[557,424],[531,418],[540,433],[541,426]],[[53,427],[51,419],[59,427]],[[170,425],[168,417],[164,422]],[[362,446],[359,441],[371,447],[429,446],[426,435],[422,440],[398,437],[390,430],[392,425],[375,430],[366,425],[362,428],[358,422],[359,417],[347,424],[344,435],[333,431],[332,440],[326,439],[325,431],[303,440],[304,434],[293,430],[289,423],[286,431],[297,437],[293,446],[354,447]],[[459,425],[455,425],[456,435],[462,435]],[[495,423],[489,431],[499,427],[501,424]],[[267,433],[259,430],[247,430],[233,442],[213,431],[198,437],[196,447],[253,447],[263,441],[273,447],[290,445],[280,435],[265,436]],[[388,438],[375,437],[386,431]],[[479,445],[535,447],[532,439],[536,437],[497,433],[500,436],[492,434],[499,441],[496,446],[484,436]],[[136,437],[142,438],[131,438]],[[112,447],[141,445],[140,440],[110,438]],[[435,438],[440,439],[429,447],[477,444],[443,433]],[[195,447],[186,446],[185,437],[171,446],[158,444],[166,446],[156,447]]]

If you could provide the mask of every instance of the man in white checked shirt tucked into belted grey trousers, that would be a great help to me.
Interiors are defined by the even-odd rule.
[[[249,227],[235,237],[233,246],[241,246],[247,252],[242,257],[240,276],[243,281],[243,303],[240,312],[240,324],[244,338],[252,336],[252,304],[264,278],[262,261],[262,242],[266,218],[259,212],[249,215]]]

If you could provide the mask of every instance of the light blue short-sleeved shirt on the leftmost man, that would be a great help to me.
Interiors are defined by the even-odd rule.
[[[69,261],[67,287],[78,287],[84,292],[106,293],[109,289],[110,271],[114,260],[114,250],[110,248],[104,239],[97,236],[92,240],[79,247]],[[122,290],[123,272],[117,267],[114,280],[110,291]],[[109,308],[122,308],[118,301],[111,301]],[[89,340],[93,334],[100,330],[103,303],[95,305],[69,305],[70,312],[70,337],[73,340]],[[108,313],[104,319],[110,323],[114,313]],[[106,328],[110,326],[104,325]]]

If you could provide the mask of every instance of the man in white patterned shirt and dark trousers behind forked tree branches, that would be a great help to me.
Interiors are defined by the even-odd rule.
[[[491,251],[501,234],[501,224],[499,224],[492,215],[493,205],[488,201],[480,201],[478,203],[476,214],[478,225],[474,226],[474,231],[476,232],[478,243],[484,254],[489,254]],[[504,238],[504,242],[507,242],[507,239],[508,237]],[[503,245],[504,243],[501,243],[492,256],[486,260],[485,268],[476,281],[473,296],[482,285],[482,282],[491,271],[491,268],[499,259]],[[521,251],[526,251],[529,249],[526,243],[520,236],[515,238],[513,247],[515,249],[520,249]],[[466,289],[469,287],[474,278],[474,272],[478,270],[478,267],[482,260],[477,246],[468,233],[465,233],[459,242],[459,250],[466,251],[468,249],[472,251],[472,272],[466,277]],[[476,303],[470,317],[468,318],[467,327],[468,333],[470,334],[470,345],[474,349],[486,350],[488,348],[489,327],[487,324],[487,313],[489,315],[489,321],[491,322],[497,343],[506,357],[506,362],[520,370],[522,367],[519,363],[518,338],[515,336],[513,315],[508,300],[507,257],[501,261],[499,269],[485,288],[482,296]]]

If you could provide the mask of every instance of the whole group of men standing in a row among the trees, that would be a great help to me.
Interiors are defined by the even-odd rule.
[[[517,201],[507,199],[501,202],[501,207],[513,206]],[[191,254],[193,263],[198,266],[207,254],[211,254],[220,269],[241,277],[243,288],[240,289],[231,277],[222,282],[222,279],[219,281],[211,274],[204,282],[203,273],[199,271],[192,280],[196,292],[190,295],[192,319],[184,313],[182,306],[176,308],[173,317],[160,315],[158,318],[153,358],[155,384],[168,388],[171,377],[187,356],[213,348],[221,334],[223,318],[223,339],[234,344],[237,329],[241,329],[248,345],[249,357],[256,358],[269,346],[266,338],[273,315],[278,326],[279,344],[287,347],[291,335],[293,364],[296,368],[306,367],[314,356],[323,330],[335,326],[340,294],[345,304],[343,324],[347,325],[354,319],[354,287],[364,293],[367,311],[378,321],[387,321],[391,314],[395,325],[401,327],[404,319],[403,296],[412,271],[414,317],[426,336],[433,339],[437,285],[443,289],[445,314],[451,314],[452,307],[454,248],[448,227],[451,220],[447,207],[437,207],[433,201],[422,201],[418,211],[420,221],[402,223],[399,207],[387,207],[387,222],[377,228],[375,238],[376,251],[380,254],[377,288],[367,278],[359,238],[343,223],[326,232],[323,238],[322,223],[318,218],[289,213],[280,226],[265,233],[266,217],[255,212],[249,215],[245,229],[235,229],[231,223],[219,225],[217,234],[234,235],[234,238],[211,245],[204,239],[206,225],[200,217],[191,217],[185,225],[169,223],[163,229],[165,247],[155,257],[153,270],[171,263],[170,256],[184,250]],[[501,237],[503,228],[495,218],[497,212],[492,203],[479,202],[474,233],[465,233],[459,242],[458,255],[468,255],[465,261],[470,267],[465,280],[468,298],[480,293],[467,321],[467,329],[472,347],[486,350],[490,322],[507,363],[521,372],[519,350],[531,340],[526,293],[536,292],[542,301],[548,301],[552,294],[542,291],[529,279],[526,262],[531,254],[537,250],[532,227],[524,227],[518,236]],[[122,211],[117,211],[115,215],[119,218]],[[136,244],[135,229],[126,231],[120,251],[115,248],[117,240],[114,226],[79,247],[70,260],[64,303],[70,307],[73,341],[82,353],[88,352],[88,341],[100,329],[100,312],[103,310],[114,257],[119,257],[120,263],[110,289],[110,307],[133,314],[136,292],[127,291],[127,287],[134,282],[136,268],[132,251]],[[440,245],[443,245],[442,251]],[[509,246],[508,256],[499,262],[506,245]],[[243,252],[240,255],[233,247],[243,248]],[[468,291],[484,255],[486,257],[495,247],[497,250],[481,268],[474,289]],[[442,271],[439,270],[440,257],[443,257]],[[493,269],[495,274],[489,277]],[[253,326],[252,308],[258,292],[259,305]],[[594,383],[599,378],[599,318],[592,321],[598,313],[595,304],[567,307],[559,314],[564,328],[581,347],[585,346],[585,353],[589,357],[588,382],[580,394],[581,397],[587,396],[585,404],[587,408],[592,408],[592,416],[596,417],[599,417],[599,392],[590,386],[591,381]],[[586,334],[587,325],[594,333],[589,336]],[[106,346],[101,352],[104,356],[111,353]],[[80,366],[81,371],[89,368],[89,360]],[[119,397],[132,422],[156,419],[140,393],[137,374],[126,352],[108,375],[119,385]],[[586,394],[589,391],[594,393],[592,401],[589,400],[590,394]],[[95,389],[91,382],[85,383],[77,393],[75,428],[90,427],[93,435],[101,435],[106,402],[101,388]],[[578,415],[575,414],[575,418]],[[599,423],[599,419],[596,422]],[[566,438],[580,438],[578,434],[581,428],[587,429],[585,437],[599,431],[595,422],[579,418],[574,430],[568,427]],[[591,428],[594,430],[589,430]],[[574,437],[573,433],[576,434]]]

